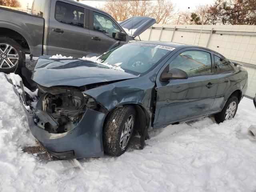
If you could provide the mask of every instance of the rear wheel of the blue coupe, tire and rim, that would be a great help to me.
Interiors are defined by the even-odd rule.
[[[233,105],[234,103],[236,104],[236,108],[234,110],[232,110],[232,106],[234,106]],[[232,106],[231,106],[231,104],[232,104]],[[236,96],[232,95],[232,96],[230,96],[230,98],[226,102],[222,111],[220,113],[214,115],[214,118],[215,118],[216,122],[217,123],[222,123],[222,122],[224,122],[224,120],[234,118],[234,116],[236,115],[237,108],[238,108],[238,98]],[[226,114],[227,110],[232,111],[232,112],[229,113],[228,118],[227,118],[227,114]]]

